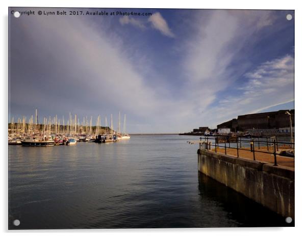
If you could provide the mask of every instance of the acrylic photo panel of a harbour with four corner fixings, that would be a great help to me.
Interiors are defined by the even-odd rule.
[[[294,226],[294,10],[8,18],[9,229]]]

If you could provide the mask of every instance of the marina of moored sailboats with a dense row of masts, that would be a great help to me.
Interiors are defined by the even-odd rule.
[[[58,120],[58,115],[49,120],[44,117],[43,124],[39,124],[38,111],[35,110],[35,121],[33,115],[26,123],[27,117],[22,120],[18,118],[14,123],[12,118],[8,130],[8,144],[22,146],[54,146],[54,145],[75,145],[77,142],[109,143],[130,139],[126,133],[126,114],[124,114],[123,133],[121,133],[120,112],[118,115],[117,129],[113,128],[113,115],[111,114],[111,126],[108,126],[105,117],[105,127],[100,125],[100,115],[97,117],[96,126],[92,126],[93,117],[90,120],[83,117],[83,122],[79,123],[77,115],[72,117],[69,113],[69,120],[65,125],[64,116]]]

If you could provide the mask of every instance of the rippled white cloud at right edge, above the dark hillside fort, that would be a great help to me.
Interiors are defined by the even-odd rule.
[[[246,82],[236,96],[221,101],[210,113],[223,114],[220,122],[241,114],[294,101],[294,58],[290,55],[265,62],[245,74]],[[223,119],[224,118],[224,119]]]

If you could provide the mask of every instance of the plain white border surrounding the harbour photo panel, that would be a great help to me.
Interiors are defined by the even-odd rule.
[[[13,236],[19,232],[23,235],[32,236],[33,234],[52,236],[59,233],[66,233],[69,235],[84,235],[85,233],[91,233],[95,235],[107,234],[124,234],[125,236],[156,236],[159,235],[169,235],[176,234],[176,236],[185,236],[187,234],[194,235],[223,235],[223,236],[257,236],[263,234],[278,235],[280,236],[291,236],[291,235],[302,235],[304,231],[305,215],[306,215],[306,175],[307,168],[307,155],[303,155],[304,148],[304,138],[303,132],[306,126],[303,126],[303,121],[305,121],[306,113],[303,111],[307,106],[305,105],[306,97],[306,8],[302,4],[303,1],[268,1],[268,0],[258,0],[258,1],[174,1],[167,2],[165,0],[156,1],[38,1],[38,0],[28,0],[28,1],[1,1],[1,20],[2,20],[2,31],[1,31],[1,72],[2,72],[2,98],[1,98],[1,151],[2,156],[2,188],[1,188],[1,204],[2,204],[2,214],[0,216],[1,220],[1,230],[5,234],[8,232],[12,233]],[[203,229],[115,229],[115,230],[31,230],[31,231],[8,231],[8,155],[7,155],[7,124],[8,124],[8,7],[110,7],[110,8],[206,8],[206,9],[287,9],[295,10],[295,109],[296,109],[296,186],[295,186],[295,197],[296,197],[296,213],[295,213],[295,228],[203,228]],[[287,37],[287,36],[285,36]],[[278,39],[276,39],[278,40]],[[11,235],[10,235],[11,236]]]

